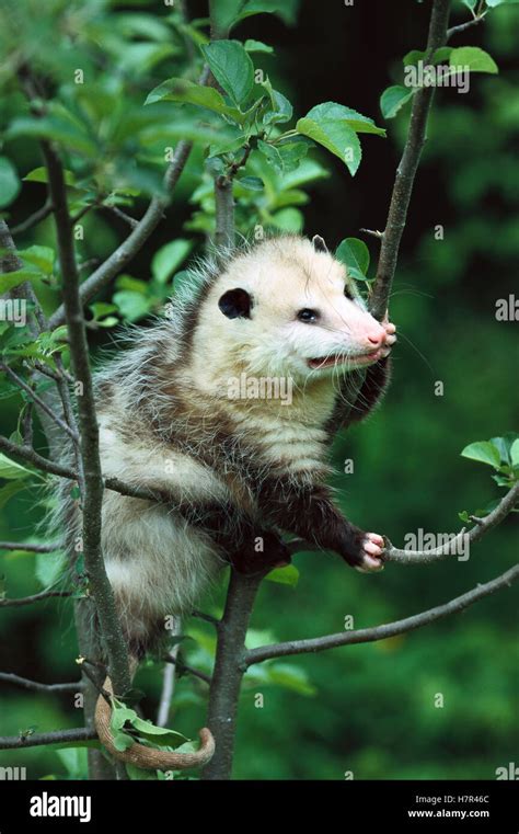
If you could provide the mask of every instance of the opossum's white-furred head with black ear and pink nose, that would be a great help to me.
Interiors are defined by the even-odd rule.
[[[282,237],[233,258],[198,310],[192,347],[219,372],[312,377],[377,362],[384,328],[324,241]]]

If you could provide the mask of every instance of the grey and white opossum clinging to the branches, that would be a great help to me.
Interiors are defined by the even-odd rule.
[[[326,480],[346,414],[359,420],[380,400],[395,338],[324,241],[299,236],[204,263],[166,317],[130,332],[95,386],[104,476],[161,498],[104,494],[103,553],[132,655],[227,562],[288,563],[282,534],[382,568],[382,537],[342,515]]]

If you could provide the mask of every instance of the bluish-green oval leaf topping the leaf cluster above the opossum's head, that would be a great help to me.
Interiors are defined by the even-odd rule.
[[[254,87],[254,66],[239,41],[215,41],[200,47],[220,87],[234,104],[242,104]]]

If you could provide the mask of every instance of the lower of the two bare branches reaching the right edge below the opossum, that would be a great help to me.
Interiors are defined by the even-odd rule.
[[[355,643],[370,643],[377,640],[385,640],[389,637],[395,637],[406,631],[414,631],[416,628],[427,626],[437,619],[448,617],[451,614],[457,614],[464,608],[468,608],[473,603],[483,597],[494,594],[496,591],[500,591],[504,587],[511,585],[519,579],[519,564],[516,564],[510,570],[503,573],[497,579],[491,580],[482,585],[468,591],[461,596],[457,596],[454,599],[438,605],[436,608],[429,608],[420,614],[415,614],[412,617],[396,620],[395,622],[389,622],[383,626],[374,626],[373,628],[362,628],[356,631],[339,631],[336,635],[326,635],[325,637],[316,637],[309,640],[290,640],[285,643],[274,643],[273,646],[263,646],[258,649],[252,649],[245,655],[245,663],[251,666],[253,663],[262,663],[265,660],[273,658],[285,658],[288,654],[305,654],[309,652],[321,652],[326,649],[336,649],[339,646],[351,646]]]

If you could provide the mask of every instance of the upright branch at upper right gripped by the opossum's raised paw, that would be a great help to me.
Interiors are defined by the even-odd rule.
[[[447,43],[449,11],[450,0],[435,0],[430,16],[425,64],[427,64],[436,49],[439,49]],[[407,139],[404,153],[396,169],[388,220],[380,248],[377,278],[370,302],[371,312],[379,320],[383,318],[388,308],[388,299],[396,270],[400,243],[405,228],[413,184],[426,139],[427,119],[434,90],[432,85],[422,87],[413,98]]]

